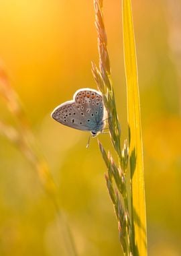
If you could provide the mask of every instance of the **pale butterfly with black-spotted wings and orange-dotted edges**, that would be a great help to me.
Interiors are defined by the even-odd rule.
[[[91,131],[93,137],[104,127],[105,108],[101,92],[83,88],[77,90],[73,100],[57,106],[52,112],[52,118],[74,129]]]

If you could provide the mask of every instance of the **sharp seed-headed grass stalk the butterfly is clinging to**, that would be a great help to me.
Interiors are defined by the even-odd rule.
[[[94,6],[95,25],[98,35],[99,68],[95,63],[92,63],[92,71],[97,86],[103,94],[103,102],[108,116],[109,133],[113,148],[117,153],[117,160],[115,161],[113,159],[110,152],[107,154],[100,141],[99,148],[108,170],[107,174],[105,174],[105,179],[117,217],[121,247],[125,255],[133,255],[131,213],[127,197],[128,146],[127,141],[125,141],[123,150],[121,151],[121,128],[117,117],[115,94],[111,79],[111,67],[107,51],[107,35],[102,12],[103,1],[95,0]]]

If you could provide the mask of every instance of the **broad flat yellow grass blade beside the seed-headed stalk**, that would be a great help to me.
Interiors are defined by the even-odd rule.
[[[137,61],[131,12],[131,0],[123,0],[123,48],[127,81],[127,116],[129,123],[129,156],[132,183],[133,255],[147,255],[143,147]]]

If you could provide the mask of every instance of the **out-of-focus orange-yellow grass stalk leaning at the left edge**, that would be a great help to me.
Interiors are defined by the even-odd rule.
[[[61,225],[59,228],[63,232],[64,250],[67,255],[76,256],[76,248],[70,232],[70,227],[60,210],[58,189],[52,179],[50,167],[39,149],[36,137],[34,136],[23,111],[23,104],[21,104],[21,100],[15,90],[11,87],[7,73],[2,64],[0,65],[0,96],[5,101],[5,106],[7,106],[15,121],[15,125],[9,125],[0,120],[0,135],[9,139],[9,141],[17,147],[19,152],[23,154],[32,168],[36,170],[44,191],[46,191],[46,194],[54,204],[56,216],[58,217],[58,225]]]

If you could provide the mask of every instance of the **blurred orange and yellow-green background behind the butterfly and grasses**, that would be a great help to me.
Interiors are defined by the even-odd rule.
[[[181,3],[133,2],[145,166],[149,255],[180,255]],[[121,1],[105,1],[113,85],[122,141],[127,110]],[[78,88],[96,88],[93,1],[1,1],[0,57],[58,187],[78,255],[121,255],[117,223],[96,139],[50,118]],[[0,100],[1,120],[13,117]],[[108,146],[108,135],[99,135]],[[61,229],[38,175],[0,137],[0,255],[64,255]]]

